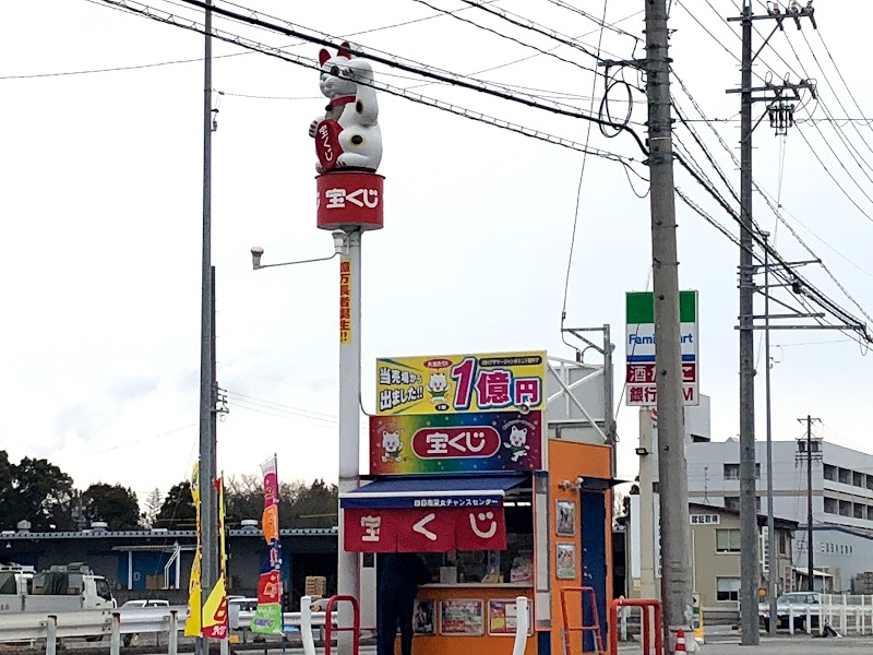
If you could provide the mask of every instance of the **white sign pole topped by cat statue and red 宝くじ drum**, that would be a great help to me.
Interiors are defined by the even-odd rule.
[[[319,162],[316,216],[319,229],[342,230],[348,252],[339,259],[339,495],[359,484],[361,380],[361,235],[382,229],[384,178],[379,104],[371,86],[373,69],[354,57],[344,43],[336,55],[321,50],[320,87],[328,98],[323,117],[312,121]],[[340,514],[342,515],[342,514]],[[358,555],[343,548],[339,522],[337,594],[360,597]],[[351,624],[340,612],[342,626]],[[342,655],[351,652],[349,632],[340,632]],[[346,640],[342,638],[346,636]]]

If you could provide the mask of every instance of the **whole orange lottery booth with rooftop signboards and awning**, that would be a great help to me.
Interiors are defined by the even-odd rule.
[[[340,496],[362,624],[376,624],[379,553],[416,552],[430,572],[417,655],[511,653],[518,596],[526,655],[607,648],[611,384],[608,359],[545,352],[379,359],[370,474]]]

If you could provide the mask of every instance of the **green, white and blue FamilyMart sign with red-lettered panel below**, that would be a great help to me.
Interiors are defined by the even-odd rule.
[[[625,297],[627,336],[626,404],[655,406],[658,403],[655,371],[655,297],[649,293],[627,293]],[[682,347],[682,395],[685,405],[699,404],[697,359],[697,291],[679,293],[679,335]]]

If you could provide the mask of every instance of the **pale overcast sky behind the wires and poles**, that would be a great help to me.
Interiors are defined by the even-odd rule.
[[[708,117],[736,118],[739,97],[725,90],[739,83],[730,52],[740,53],[740,39],[734,24],[728,26],[718,14],[738,10],[729,0],[710,1],[715,10],[707,0],[673,2],[671,55],[677,73]],[[446,10],[464,7],[455,0],[429,2]],[[588,34],[582,40],[597,47],[594,22],[547,0],[497,4],[573,36]],[[573,4],[598,15],[603,11],[599,0]],[[866,38],[873,5],[860,0],[817,4],[820,34],[869,115],[869,67],[856,51]],[[165,0],[154,5],[193,15]],[[536,92],[540,95],[591,92],[591,73],[552,57],[531,58],[535,50],[438,15],[414,0],[252,0],[248,5],[336,35],[428,19],[356,40],[364,48],[465,74],[527,58],[480,76],[541,90]],[[691,19],[685,5],[717,40]],[[642,9],[642,0],[613,0],[607,20]],[[477,9],[457,15],[542,49],[558,45]],[[642,19],[641,13],[620,25],[642,36]],[[196,453],[203,103],[203,67],[196,60],[203,38],[127,15],[99,0],[11,3],[2,24],[0,449],[14,458],[48,457],[83,487],[120,481],[141,499],[155,487],[166,491],[189,475]],[[273,46],[292,41],[226,21],[216,26]],[[858,118],[861,112],[820,35],[809,24],[802,34],[791,24],[786,27],[772,43],[792,69],[802,73],[802,67],[817,79],[824,104],[808,106],[815,107],[814,116],[824,118],[829,111]],[[610,32],[602,41],[605,50],[621,58],[642,56],[641,46]],[[318,50],[311,45],[292,48],[312,58]],[[242,51],[215,44],[216,56]],[[554,53],[587,68],[593,62],[569,47]],[[789,71],[769,48],[762,58],[755,67],[762,76],[768,66],[777,81]],[[182,62],[43,76],[171,61]],[[380,80],[397,86],[421,84],[386,67],[376,64],[375,70]],[[34,76],[11,78],[23,75]],[[627,81],[636,79],[626,71]],[[319,97],[313,71],[263,55],[216,57],[214,87],[224,92],[216,94],[220,104],[213,159],[218,379],[230,392],[230,413],[219,425],[219,466],[227,474],[255,474],[258,464],[275,451],[284,479],[336,479],[337,264],[253,272],[249,255],[253,245],[265,248],[265,263],[332,252],[330,234],[314,225],[315,157],[307,134],[325,100]],[[586,139],[583,120],[443,85],[416,91],[575,141]],[[678,85],[673,93],[694,115]],[[595,95],[602,95],[602,81]],[[644,96],[634,92],[633,98],[633,127],[642,134]],[[587,99],[565,102],[588,108]],[[623,116],[625,109],[615,103],[613,114]],[[755,107],[756,114],[762,110]],[[804,117],[805,110],[798,112]],[[582,154],[385,94],[380,96],[380,122],[386,227],[364,236],[367,409],[374,408],[373,361],[379,356],[545,348],[572,358],[559,329]],[[738,182],[728,153],[705,123],[695,126]],[[717,128],[736,150],[738,123],[719,122]],[[786,217],[792,227],[870,311],[873,225],[803,141],[805,136],[839,184],[873,215],[873,201],[849,177],[871,194],[873,168],[866,163],[873,163],[873,129],[866,123],[857,128],[842,128],[857,150],[850,154],[829,123],[799,124],[785,141],[780,167],[782,142],[765,121],[755,132],[754,168],[758,183],[790,212]],[[705,162],[687,131],[679,128],[678,133]],[[594,129],[590,144],[641,156],[627,134],[606,139]],[[638,164],[635,169],[646,172]],[[643,192],[646,184],[633,179]],[[736,234],[731,219],[683,171],[677,170],[677,184]],[[762,226],[774,230],[773,213],[760,196],[755,203]],[[722,440],[739,431],[733,329],[739,253],[680,203],[678,219],[681,286],[699,290],[701,390],[713,397],[713,437]],[[789,259],[810,259],[785,226],[776,230],[776,243]],[[620,372],[624,293],[646,289],[649,248],[648,199],[634,195],[620,165],[589,157],[566,322],[611,324]],[[820,267],[805,271],[860,313]],[[824,421],[821,434],[826,439],[865,448],[871,359],[837,332],[775,332],[773,341],[780,346],[774,349],[776,438],[799,436],[802,426],[796,419],[812,414]],[[763,392],[763,360],[760,370]],[[763,438],[763,393],[758,396]],[[623,408],[619,415],[619,473],[631,478],[636,473],[636,412]]]

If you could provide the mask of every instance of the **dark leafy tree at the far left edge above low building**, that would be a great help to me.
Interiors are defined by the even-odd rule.
[[[0,521],[12,529],[28,521],[35,532],[73,529],[73,479],[48,460],[23,457],[17,464],[0,451]]]

